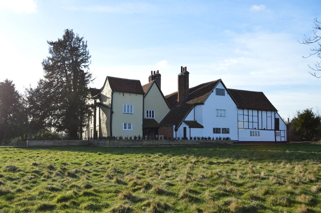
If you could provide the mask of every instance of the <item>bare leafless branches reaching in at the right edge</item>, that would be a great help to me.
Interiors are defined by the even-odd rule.
[[[321,39],[321,34],[319,31],[319,30],[321,30],[321,26],[320,26],[321,23],[317,20],[317,18],[314,19],[314,25],[315,26],[313,27],[313,29],[314,29],[313,36],[306,37],[304,35],[304,38],[302,39],[302,41],[300,43],[304,44],[304,45],[316,44],[317,47],[310,48],[312,53],[310,53],[308,56],[302,56],[303,58],[308,58],[311,55],[317,55],[317,57],[321,59],[321,44],[319,42]],[[313,70],[312,72],[309,72],[309,73],[316,78],[320,78],[321,75],[317,74],[316,72],[321,71],[321,61],[317,61],[314,66],[315,67],[311,67],[310,65],[308,65],[308,67]]]

